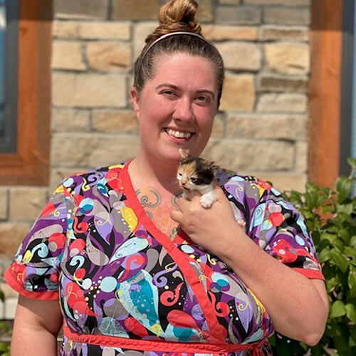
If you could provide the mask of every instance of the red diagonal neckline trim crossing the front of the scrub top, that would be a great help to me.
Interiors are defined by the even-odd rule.
[[[180,270],[184,274],[184,278],[189,281],[189,285],[192,288],[193,293],[199,302],[201,310],[203,311],[204,316],[206,318],[206,323],[210,330],[208,340],[212,342],[217,341],[219,343],[225,342],[226,329],[219,324],[214,310],[214,306],[211,305],[209,296],[204,290],[204,287],[199,281],[199,278],[195,273],[194,269],[192,268],[192,266],[190,266],[189,258],[175,245],[177,239],[171,241],[166,234],[163,234],[162,231],[157,229],[157,226],[153,224],[153,221],[147,216],[145,210],[142,208],[140,201],[138,201],[135,194],[135,189],[132,187],[129,172],[127,170],[130,162],[131,161],[127,162],[125,164],[125,167],[121,169],[121,182],[125,190],[124,194],[130,202],[131,208],[135,211],[137,219],[142,221],[143,225],[145,226],[145,229],[150,231],[150,233],[155,236],[155,239],[157,239],[157,241],[162,244],[162,246],[166,249],[167,253],[169,253],[169,255],[172,257],[173,261],[176,262],[179,266]],[[182,234],[179,235],[180,239],[184,239]]]

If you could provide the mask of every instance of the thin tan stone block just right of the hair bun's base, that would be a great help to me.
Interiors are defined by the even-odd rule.
[[[210,41],[243,40],[256,41],[257,27],[252,26],[219,26],[206,25],[202,31],[205,38]]]

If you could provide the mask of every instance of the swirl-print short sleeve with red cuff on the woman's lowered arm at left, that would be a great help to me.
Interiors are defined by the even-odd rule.
[[[58,298],[59,263],[66,241],[68,192],[60,184],[20,245],[4,278],[28,298]]]

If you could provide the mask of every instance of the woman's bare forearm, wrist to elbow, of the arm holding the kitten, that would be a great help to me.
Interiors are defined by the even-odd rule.
[[[314,284],[269,256],[236,226],[224,234],[236,239],[219,256],[265,305],[276,330],[308,344],[318,342],[328,307]]]

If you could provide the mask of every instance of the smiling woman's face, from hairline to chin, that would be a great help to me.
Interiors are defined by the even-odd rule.
[[[177,163],[182,147],[198,156],[211,134],[217,95],[215,68],[206,58],[159,56],[140,95],[131,89],[140,126],[139,155]]]

